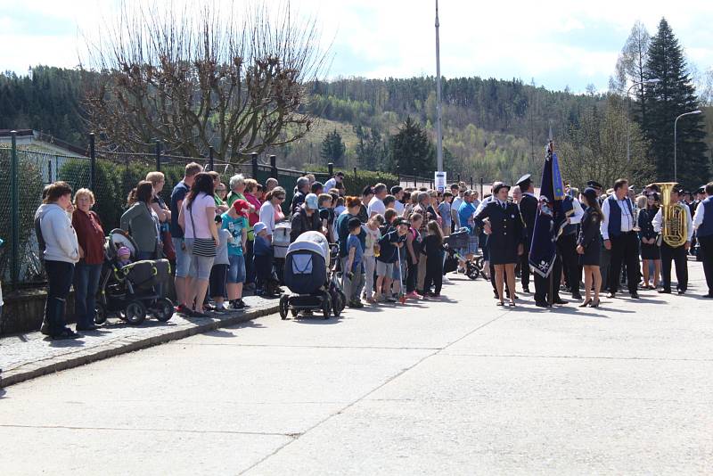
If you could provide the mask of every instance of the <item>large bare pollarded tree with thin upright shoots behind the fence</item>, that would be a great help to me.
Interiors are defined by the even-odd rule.
[[[316,21],[298,20],[289,1],[277,12],[234,4],[121,5],[102,40],[87,41],[83,65],[86,115],[102,140],[135,152],[160,140],[187,156],[213,146],[240,162],[309,131],[305,85],[324,75],[327,54]]]

